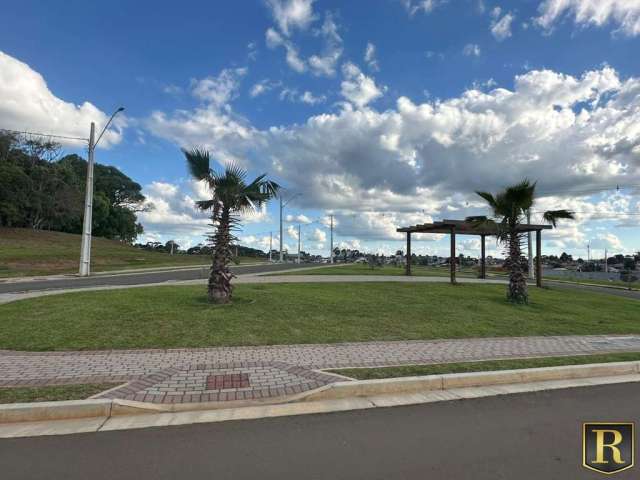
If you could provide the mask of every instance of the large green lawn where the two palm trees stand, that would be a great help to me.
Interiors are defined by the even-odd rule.
[[[212,306],[203,286],[70,293],[0,306],[0,349],[75,350],[640,333],[640,301],[502,285],[239,285]]]

